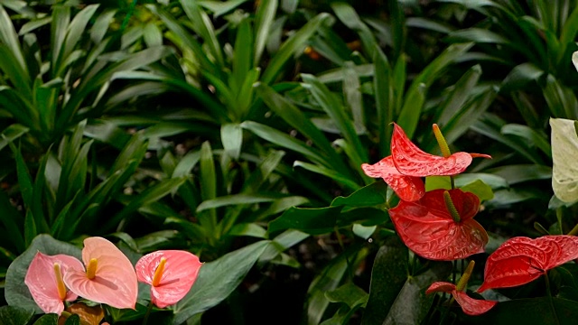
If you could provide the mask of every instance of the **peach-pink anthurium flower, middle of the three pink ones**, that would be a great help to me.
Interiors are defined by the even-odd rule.
[[[113,243],[102,237],[84,240],[82,261],[86,265],[64,274],[70,291],[93,302],[115,308],[135,308],[138,283],[133,265]]]

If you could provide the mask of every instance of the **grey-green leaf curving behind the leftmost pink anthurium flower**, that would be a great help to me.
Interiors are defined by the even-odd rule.
[[[30,265],[34,255],[39,251],[46,255],[71,255],[81,260],[79,247],[43,234],[35,237],[28,249],[14,260],[6,272],[6,302],[11,306],[22,307],[35,313],[42,313],[42,310],[33,301],[28,287],[24,284],[24,277],[26,276],[28,265]]]

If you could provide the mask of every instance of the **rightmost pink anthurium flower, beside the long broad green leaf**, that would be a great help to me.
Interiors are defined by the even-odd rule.
[[[179,302],[197,280],[199,257],[181,250],[161,250],[136,262],[138,281],[151,285],[151,302],[164,308]]]

